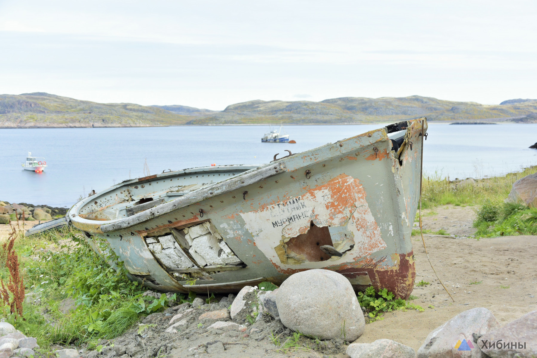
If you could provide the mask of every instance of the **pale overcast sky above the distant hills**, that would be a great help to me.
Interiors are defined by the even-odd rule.
[[[536,10],[490,0],[0,0],[0,93],[209,109],[537,98]]]

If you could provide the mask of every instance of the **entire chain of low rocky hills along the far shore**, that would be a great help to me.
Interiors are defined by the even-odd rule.
[[[314,101],[252,100],[221,112],[182,105],[101,104],[44,92],[0,95],[0,128],[146,127],[261,123],[374,123],[427,117],[430,121],[535,122],[537,100],[499,105],[432,97],[342,97]]]

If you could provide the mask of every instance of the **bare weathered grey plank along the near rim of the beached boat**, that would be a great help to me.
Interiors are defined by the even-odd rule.
[[[258,169],[246,171],[236,177],[217,182],[191,193],[187,193],[177,199],[163,203],[149,210],[142,211],[141,213],[137,213],[133,216],[126,217],[110,224],[101,225],[100,230],[103,232],[109,232],[125,229],[131,227],[132,225],[151,220],[156,216],[170,213],[170,211],[212,198],[216,195],[229,193],[235,189],[245,187],[250,184],[254,184],[260,180],[275,176],[276,174],[285,170],[286,166],[283,162],[267,164]]]

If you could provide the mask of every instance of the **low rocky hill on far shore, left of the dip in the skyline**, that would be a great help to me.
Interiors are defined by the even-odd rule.
[[[132,103],[95,103],[45,92],[0,94],[0,128],[151,127],[181,125],[191,116]]]

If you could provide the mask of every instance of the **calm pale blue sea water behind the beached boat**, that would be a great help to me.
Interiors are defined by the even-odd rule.
[[[150,173],[216,164],[259,164],[351,137],[381,125],[285,126],[296,144],[261,143],[268,126],[0,129],[0,200],[71,206],[79,196]],[[482,178],[537,164],[537,124],[430,123],[424,172]],[[45,172],[22,169],[27,152]]]

